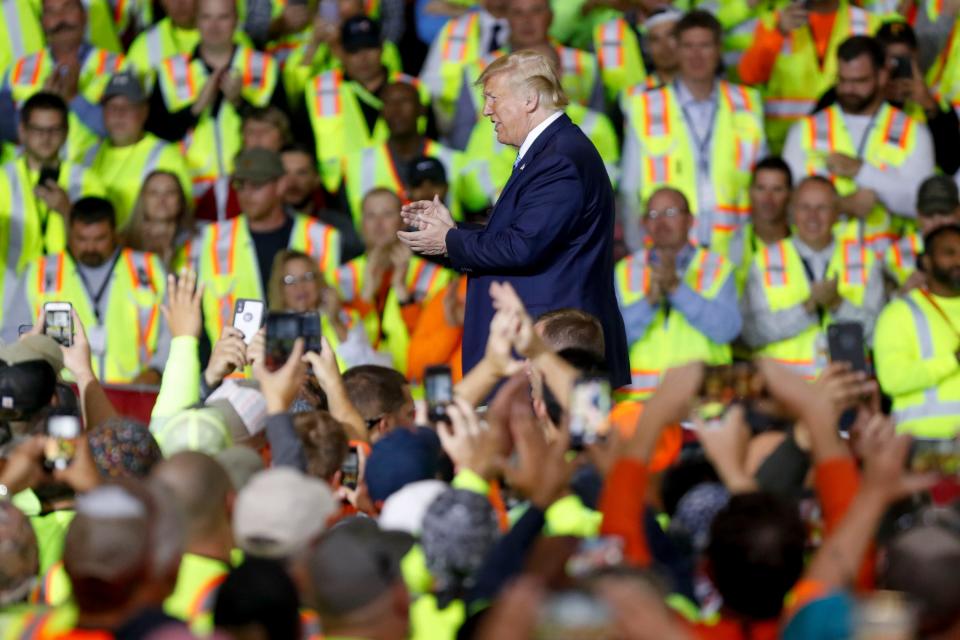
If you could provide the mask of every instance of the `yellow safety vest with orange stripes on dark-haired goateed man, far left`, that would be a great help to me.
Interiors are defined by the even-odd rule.
[[[93,354],[93,371],[106,383],[130,382],[157,350],[160,305],[166,272],[152,253],[123,249],[110,276],[106,315],[98,320],[77,265],[67,253],[44,256],[25,273],[27,300],[37,317],[47,302],[69,302],[86,327],[103,331],[102,353]]]

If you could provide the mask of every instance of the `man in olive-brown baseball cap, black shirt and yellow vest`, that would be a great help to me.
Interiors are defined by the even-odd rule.
[[[291,214],[283,201],[286,180],[278,153],[241,151],[233,187],[242,213],[205,227],[188,256],[205,285],[203,316],[211,343],[231,326],[238,298],[266,299],[273,258],[282,249],[308,253],[324,273],[340,266],[340,233],[316,218]]]

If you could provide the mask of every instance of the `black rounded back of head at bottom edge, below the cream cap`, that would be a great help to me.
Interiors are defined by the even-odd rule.
[[[297,588],[279,562],[248,557],[217,590],[213,623],[227,630],[259,627],[269,640],[299,638]]]

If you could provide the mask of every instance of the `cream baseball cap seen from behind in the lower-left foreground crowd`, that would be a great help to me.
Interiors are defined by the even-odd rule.
[[[251,555],[286,558],[323,533],[336,511],[327,483],[292,467],[274,467],[255,474],[237,494],[233,533]]]

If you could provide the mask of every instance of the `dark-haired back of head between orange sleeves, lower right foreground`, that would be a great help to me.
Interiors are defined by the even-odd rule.
[[[713,519],[706,550],[724,605],[754,620],[778,617],[803,573],[805,544],[795,505],[762,492],[730,498]]]

